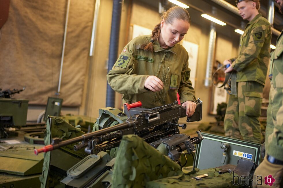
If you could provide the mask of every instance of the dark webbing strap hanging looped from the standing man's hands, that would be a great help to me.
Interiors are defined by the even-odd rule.
[[[222,65],[221,67],[219,67],[212,75],[212,83],[215,87],[217,88],[221,88],[224,86],[224,89],[226,90],[226,92],[231,95],[237,95],[237,73],[236,71],[231,71],[229,73],[225,74],[225,80],[223,82],[223,84],[221,86],[217,86],[215,85],[215,83],[213,82],[213,78],[215,73],[217,73],[217,71],[224,69],[226,67],[226,65]],[[228,87],[226,88],[226,84],[228,84]]]

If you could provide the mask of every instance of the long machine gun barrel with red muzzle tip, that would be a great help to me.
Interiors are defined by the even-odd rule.
[[[101,136],[101,135],[104,135],[104,134],[107,134],[107,133],[110,133],[110,132],[123,130],[123,129],[126,129],[126,128],[131,128],[131,127],[133,127],[133,125],[134,125],[133,121],[126,121],[122,124],[112,126],[112,127],[108,127],[108,128],[105,128],[105,129],[101,129],[101,130],[98,130],[98,131],[95,131],[95,132],[83,134],[82,136],[78,136],[76,138],[72,138],[72,139],[69,139],[69,140],[65,140],[65,141],[58,140],[58,141],[56,141],[56,139],[54,139],[55,140],[54,143],[47,145],[47,146],[44,146],[40,149],[34,149],[34,154],[38,155],[38,153],[42,153],[42,152],[45,153],[47,151],[52,151],[54,149],[58,149],[60,147],[70,145],[70,144],[73,144],[73,143],[77,143],[77,142],[80,142],[80,141],[83,141],[83,140],[90,140],[91,138],[93,138],[95,136]]]

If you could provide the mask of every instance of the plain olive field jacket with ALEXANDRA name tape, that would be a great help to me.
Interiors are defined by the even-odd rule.
[[[172,48],[161,48],[154,41],[154,52],[144,50],[151,35],[136,37],[130,41],[120,54],[117,62],[107,74],[109,85],[123,94],[123,103],[142,102],[144,108],[152,108],[169,104],[177,100],[194,101],[194,89],[189,79],[189,55],[185,48],[176,44]],[[144,88],[144,82],[150,75],[161,79],[163,90],[152,92]]]

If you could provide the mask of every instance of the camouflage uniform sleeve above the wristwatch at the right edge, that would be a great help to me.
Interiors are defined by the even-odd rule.
[[[283,31],[282,31],[283,33]],[[271,88],[267,109],[265,149],[268,155],[283,161],[283,34],[278,37],[275,51],[271,54]]]

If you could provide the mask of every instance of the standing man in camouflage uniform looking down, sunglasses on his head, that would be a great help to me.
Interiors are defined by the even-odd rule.
[[[224,61],[231,65],[225,73],[237,72],[237,95],[229,96],[224,119],[225,135],[260,143],[258,117],[269,63],[271,27],[258,13],[259,0],[237,0],[236,3],[239,14],[250,22],[241,36],[238,57]]]

